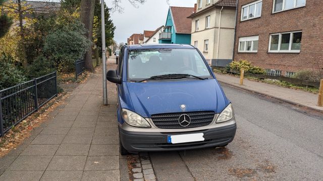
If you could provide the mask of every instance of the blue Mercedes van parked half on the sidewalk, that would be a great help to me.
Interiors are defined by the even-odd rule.
[[[117,70],[120,153],[225,146],[236,133],[233,107],[198,49],[128,45]]]

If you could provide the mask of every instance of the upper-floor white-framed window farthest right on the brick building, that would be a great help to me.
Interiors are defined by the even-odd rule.
[[[303,7],[306,0],[274,0],[273,13]]]

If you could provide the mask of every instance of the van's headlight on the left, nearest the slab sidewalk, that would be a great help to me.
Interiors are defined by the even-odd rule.
[[[134,113],[132,111],[122,109],[122,117],[125,120],[125,122],[134,127],[141,127],[141,128],[151,128],[147,120],[137,113]]]

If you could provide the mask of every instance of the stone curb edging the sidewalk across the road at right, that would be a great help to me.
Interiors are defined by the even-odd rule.
[[[226,85],[229,85],[229,86],[233,86],[233,87],[236,87],[236,88],[240,88],[240,89],[243,89],[245,91],[252,92],[252,93],[255,93],[257,95],[260,95],[260,96],[270,97],[270,98],[273,98],[273,99],[276,99],[276,100],[283,101],[285,103],[291,104],[293,106],[301,107],[301,108],[304,108],[304,109],[307,109],[307,110],[310,110],[310,111],[314,111],[314,112],[323,113],[323,110],[311,108],[311,107],[308,107],[308,106],[303,105],[303,104],[295,103],[295,102],[292,102],[292,101],[289,101],[289,100],[286,100],[286,99],[282,99],[282,98],[278,98],[278,97],[275,97],[275,96],[272,96],[272,95],[268,95],[268,94],[265,94],[265,93],[260,93],[260,92],[254,91],[252,89],[249,89],[249,88],[245,88],[245,87],[241,87],[241,86],[238,86],[238,85],[235,85],[235,84],[231,84],[231,83],[227,83],[227,82],[221,81],[219,79],[217,79],[217,80],[220,83],[223,83],[223,84],[226,84]]]

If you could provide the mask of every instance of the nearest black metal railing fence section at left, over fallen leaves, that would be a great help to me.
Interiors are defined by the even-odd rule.
[[[56,96],[56,71],[0,91],[1,136]]]

